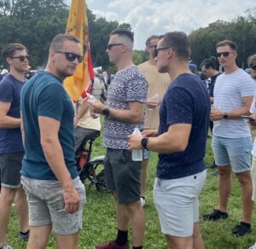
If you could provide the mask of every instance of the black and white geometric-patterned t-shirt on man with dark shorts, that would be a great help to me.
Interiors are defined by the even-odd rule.
[[[108,107],[129,110],[129,102],[147,101],[148,84],[142,72],[136,67],[128,67],[117,72],[108,89]],[[108,117],[104,124],[104,146],[108,148],[127,149],[128,136],[135,127],[143,129],[143,123],[131,124],[113,117]]]

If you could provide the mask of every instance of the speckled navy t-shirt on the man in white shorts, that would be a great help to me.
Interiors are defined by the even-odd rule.
[[[179,75],[170,85],[160,106],[159,134],[169,125],[191,124],[188,147],[180,153],[159,155],[157,177],[176,179],[204,171],[210,97],[201,79],[189,73]]]

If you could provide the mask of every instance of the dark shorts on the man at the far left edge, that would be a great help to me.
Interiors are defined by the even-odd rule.
[[[5,188],[20,187],[20,169],[24,153],[0,155],[1,185]]]

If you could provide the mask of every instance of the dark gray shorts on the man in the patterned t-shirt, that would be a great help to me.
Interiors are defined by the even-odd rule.
[[[119,204],[140,200],[142,162],[131,160],[131,151],[108,148],[104,159],[108,188],[117,192]]]

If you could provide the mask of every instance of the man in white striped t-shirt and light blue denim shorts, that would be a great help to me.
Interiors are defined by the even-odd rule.
[[[213,91],[214,109],[212,121],[218,121],[213,129],[212,150],[218,165],[218,208],[204,215],[205,220],[216,221],[228,217],[227,207],[232,188],[232,171],[241,183],[241,223],[232,234],[243,236],[251,232],[253,212],[253,185],[250,175],[250,152],[252,136],[247,125],[256,84],[253,79],[236,66],[236,43],[224,40],[217,44],[217,55],[224,73],[219,75]]]

